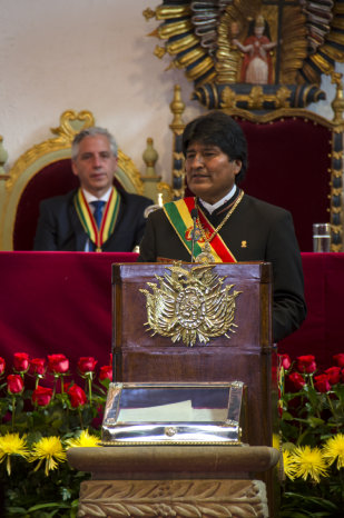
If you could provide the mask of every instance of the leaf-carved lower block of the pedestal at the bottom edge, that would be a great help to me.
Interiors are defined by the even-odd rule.
[[[78,517],[268,517],[261,480],[90,480]]]

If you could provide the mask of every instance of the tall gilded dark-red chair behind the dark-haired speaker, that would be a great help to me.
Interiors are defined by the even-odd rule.
[[[235,99],[222,91],[218,108],[242,126],[248,142],[248,169],[242,188],[248,195],[284,207],[293,215],[302,251],[313,250],[312,226],[331,222],[331,250],[343,250],[343,91],[335,78],[337,93],[332,102],[333,120],[304,108],[279,108],[252,112],[237,108]],[[198,89],[197,94],[212,92]],[[174,113],[175,196],[189,195],[184,183],[180,88],[175,88],[170,104]]]

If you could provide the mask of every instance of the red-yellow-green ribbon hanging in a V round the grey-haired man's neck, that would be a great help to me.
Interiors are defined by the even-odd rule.
[[[120,206],[120,196],[112,187],[110,197],[102,212],[100,229],[97,227],[82,189],[78,189],[73,202],[85,231],[89,239],[96,245],[96,251],[101,251],[101,246],[114,232]]]

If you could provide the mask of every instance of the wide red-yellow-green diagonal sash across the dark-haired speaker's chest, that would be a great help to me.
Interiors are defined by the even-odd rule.
[[[183,200],[170,201],[164,205],[164,211],[170,225],[176,230],[185,248],[191,253],[193,229],[194,221],[191,210],[195,208],[195,198],[184,198]],[[206,238],[210,237],[215,229],[204,216],[198,207],[198,218],[204,228]],[[196,257],[204,251],[205,240],[200,236],[199,230],[196,230],[196,239],[194,255]],[[214,255],[214,262],[237,262],[228,247],[225,245],[222,237],[217,233],[209,242]]]

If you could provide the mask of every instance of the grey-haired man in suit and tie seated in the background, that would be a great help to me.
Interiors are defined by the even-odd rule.
[[[102,128],[82,130],[72,142],[71,167],[80,188],[41,202],[33,249],[132,251],[153,200],[114,187],[114,137]]]

